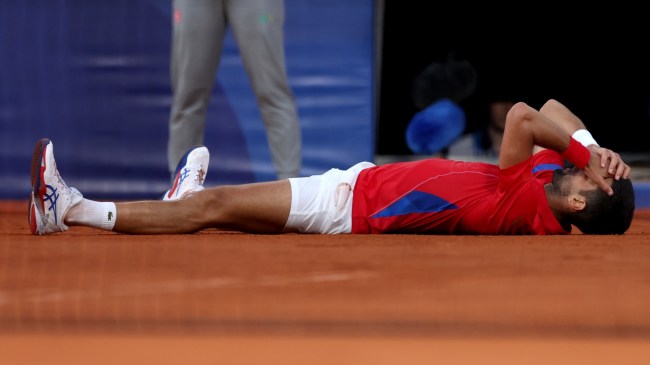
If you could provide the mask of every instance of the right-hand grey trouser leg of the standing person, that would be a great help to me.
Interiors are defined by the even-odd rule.
[[[257,98],[277,178],[300,176],[302,131],[287,81],[284,2],[228,1],[226,13]]]

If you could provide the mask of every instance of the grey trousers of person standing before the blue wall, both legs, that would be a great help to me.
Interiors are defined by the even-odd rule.
[[[264,122],[277,178],[299,176],[302,134],[287,81],[283,0],[174,0],[173,6],[170,173],[189,148],[204,144],[206,111],[230,26]]]

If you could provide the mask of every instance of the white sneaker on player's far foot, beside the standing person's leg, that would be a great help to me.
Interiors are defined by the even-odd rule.
[[[210,152],[205,146],[195,146],[185,152],[176,166],[174,185],[163,195],[163,200],[177,200],[205,189],[203,182],[208,174]]]

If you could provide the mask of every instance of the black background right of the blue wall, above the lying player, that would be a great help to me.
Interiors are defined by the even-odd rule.
[[[511,98],[539,108],[555,98],[597,141],[618,152],[648,152],[650,77],[641,9],[477,8],[387,1],[383,27],[377,154],[408,155],[404,132],[418,111],[411,83],[449,52],[478,72],[460,104],[467,132],[486,121],[487,104]],[[496,15],[495,15],[496,14]],[[639,18],[639,19],[637,19]]]

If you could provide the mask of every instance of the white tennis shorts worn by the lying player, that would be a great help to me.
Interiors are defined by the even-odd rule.
[[[352,232],[352,196],[359,173],[375,166],[360,162],[347,170],[290,178],[291,211],[283,232],[337,234]]]

